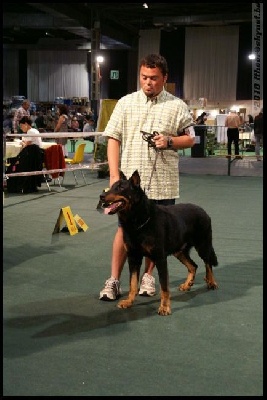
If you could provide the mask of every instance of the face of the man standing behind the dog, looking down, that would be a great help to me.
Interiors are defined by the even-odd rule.
[[[145,95],[152,98],[162,91],[167,80],[167,75],[163,76],[159,68],[141,66],[139,79],[140,86]]]

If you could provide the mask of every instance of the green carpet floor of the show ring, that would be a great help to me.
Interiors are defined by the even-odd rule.
[[[108,180],[68,173],[64,189],[5,194],[3,205],[4,396],[262,396],[263,179],[181,174],[181,198],[211,215],[219,265],[207,291],[199,264],[169,258],[172,315],[157,295],[131,309],[99,301],[110,274],[116,216],[96,211]],[[82,182],[82,179],[79,179]],[[89,229],[52,235],[62,207]],[[64,223],[62,224],[64,225]],[[121,282],[128,289],[128,268]]]

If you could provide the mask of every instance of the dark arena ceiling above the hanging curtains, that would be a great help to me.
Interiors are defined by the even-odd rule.
[[[145,7],[147,5],[147,8]],[[90,49],[100,28],[103,49],[127,49],[141,29],[250,23],[252,3],[7,3],[5,48]]]

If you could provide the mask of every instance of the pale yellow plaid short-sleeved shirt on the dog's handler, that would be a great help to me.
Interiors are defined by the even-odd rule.
[[[179,197],[178,152],[159,151],[153,170],[156,151],[148,147],[140,131],[177,136],[177,131],[192,124],[188,106],[181,99],[163,89],[150,100],[141,89],[118,100],[104,135],[121,142],[121,170],[129,178],[137,169],[150,199],[174,199]]]

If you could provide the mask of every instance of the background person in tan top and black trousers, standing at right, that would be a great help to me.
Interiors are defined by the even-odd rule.
[[[231,158],[232,143],[235,146],[235,158],[242,158],[239,155],[239,126],[241,125],[240,117],[235,110],[230,110],[230,114],[225,119],[227,127],[227,158]]]

